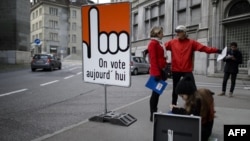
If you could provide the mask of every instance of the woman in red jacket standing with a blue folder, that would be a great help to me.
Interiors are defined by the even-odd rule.
[[[150,62],[150,76],[153,76],[156,81],[166,80],[163,70],[167,66],[166,58],[164,56],[164,48],[161,44],[163,37],[163,28],[155,26],[150,31],[150,41],[148,44],[147,52]],[[152,91],[150,97],[150,121],[153,121],[153,113],[157,112],[159,101],[159,94]]]

